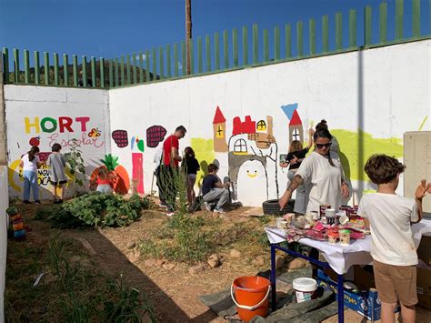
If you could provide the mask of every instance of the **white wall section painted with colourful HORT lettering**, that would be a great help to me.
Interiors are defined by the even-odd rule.
[[[22,197],[19,160],[30,149],[32,138],[33,142],[38,142],[41,156],[47,156],[43,153],[50,153],[55,143],[63,146],[62,153],[67,153],[70,140],[77,138],[84,153],[87,176],[110,150],[110,141],[106,139],[109,136],[105,136],[110,131],[106,90],[5,86],[5,116],[11,197]],[[47,120],[55,120],[56,126]],[[42,198],[52,197],[47,172],[47,169],[39,169]],[[70,188],[67,190],[69,194]]]

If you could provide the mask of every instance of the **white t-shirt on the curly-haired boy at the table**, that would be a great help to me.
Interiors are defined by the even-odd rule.
[[[357,214],[370,222],[373,259],[394,266],[417,265],[410,224],[419,218],[415,199],[396,194],[368,194],[362,197]]]

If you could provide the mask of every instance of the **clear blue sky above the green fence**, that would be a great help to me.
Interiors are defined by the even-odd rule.
[[[386,3],[390,23],[394,20],[395,1]],[[429,3],[421,1],[421,31],[428,35],[431,34]],[[232,29],[238,28],[241,40],[241,27],[247,25],[251,40],[251,27],[258,24],[260,35],[262,28],[269,28],[271,38],[275,25],[283,33],[284,25],[290,23],[295,42],[296,21],[303,20],[307,48],[309,18],[316,18],[319,35],[321,16],[329,15],[331,32],[335,13],[340,11],[344,30],[348,30],[348,10],[357,9],[359,23],[363,20],[364,6],[372,5],[373,37],[377,39],[378,4],[377,0],[192,0],[193,36],[204,37],[223,30],[232,35]],[[404,22],[405,34],[411,35],[411,0],[405,0]],[[393,34],[388,28],[389,38]],[[284,34],[281,37],[284,39]],[[357,37],[360,42],[361,28]],[[185,0],[0,0],[0,46],[10,50],[109,58],[172,45],[184,38]],[[330,46],[334,46],[332,38]]]

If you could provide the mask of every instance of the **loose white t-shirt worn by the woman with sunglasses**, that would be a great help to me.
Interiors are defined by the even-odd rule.
[[[331,152],[334,166],[329,164],[327,156],[312,152],[296,171],[304,179],[308,192],[306,212],[318,211],[322,204],[329,204],[338,209],[341,206],[341,179],[344,177],[339,157]]]

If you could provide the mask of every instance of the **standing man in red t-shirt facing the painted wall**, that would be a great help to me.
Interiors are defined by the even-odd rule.
[[[161,174],[162,185],[165,187],[164,193],[167,204],[168,217],[174,215],[175,198],[176,198],[176,182],[179,179],[178,163],[182,160],[178,154],[179,139],[185,136],[186,130],[184,126],[177,126],[175,133],[168,136],[163,143],[163,169]]]

